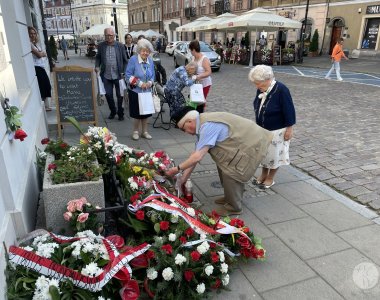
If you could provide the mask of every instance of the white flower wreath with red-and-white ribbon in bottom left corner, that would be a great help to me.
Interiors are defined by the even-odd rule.
[[[31,233],[22,243],[9,249],[8,299],[139,297],[128,263],[149,249],[146,243],[125,248],[119,236],[104,238],[83,231],[65,237],[44,230]]]

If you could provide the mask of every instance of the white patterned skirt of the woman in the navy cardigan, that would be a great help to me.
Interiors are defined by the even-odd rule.
[[[280,166],[286,166],[290,164],[290,141],[284,141],[285,130],[286,128],[271,131],[273,133],[273,139],[269,145],[265,158],[261,162],[262,167],[268,169],[277,169]]]

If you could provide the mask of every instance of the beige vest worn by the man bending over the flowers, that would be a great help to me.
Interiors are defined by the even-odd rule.
[[[205,122],[229,127],[229,137],[209,150],[218,168],[239,182],[249,181],[265,157],[273,134],[251,120],[226,112],[200,114],[201,125]]]

